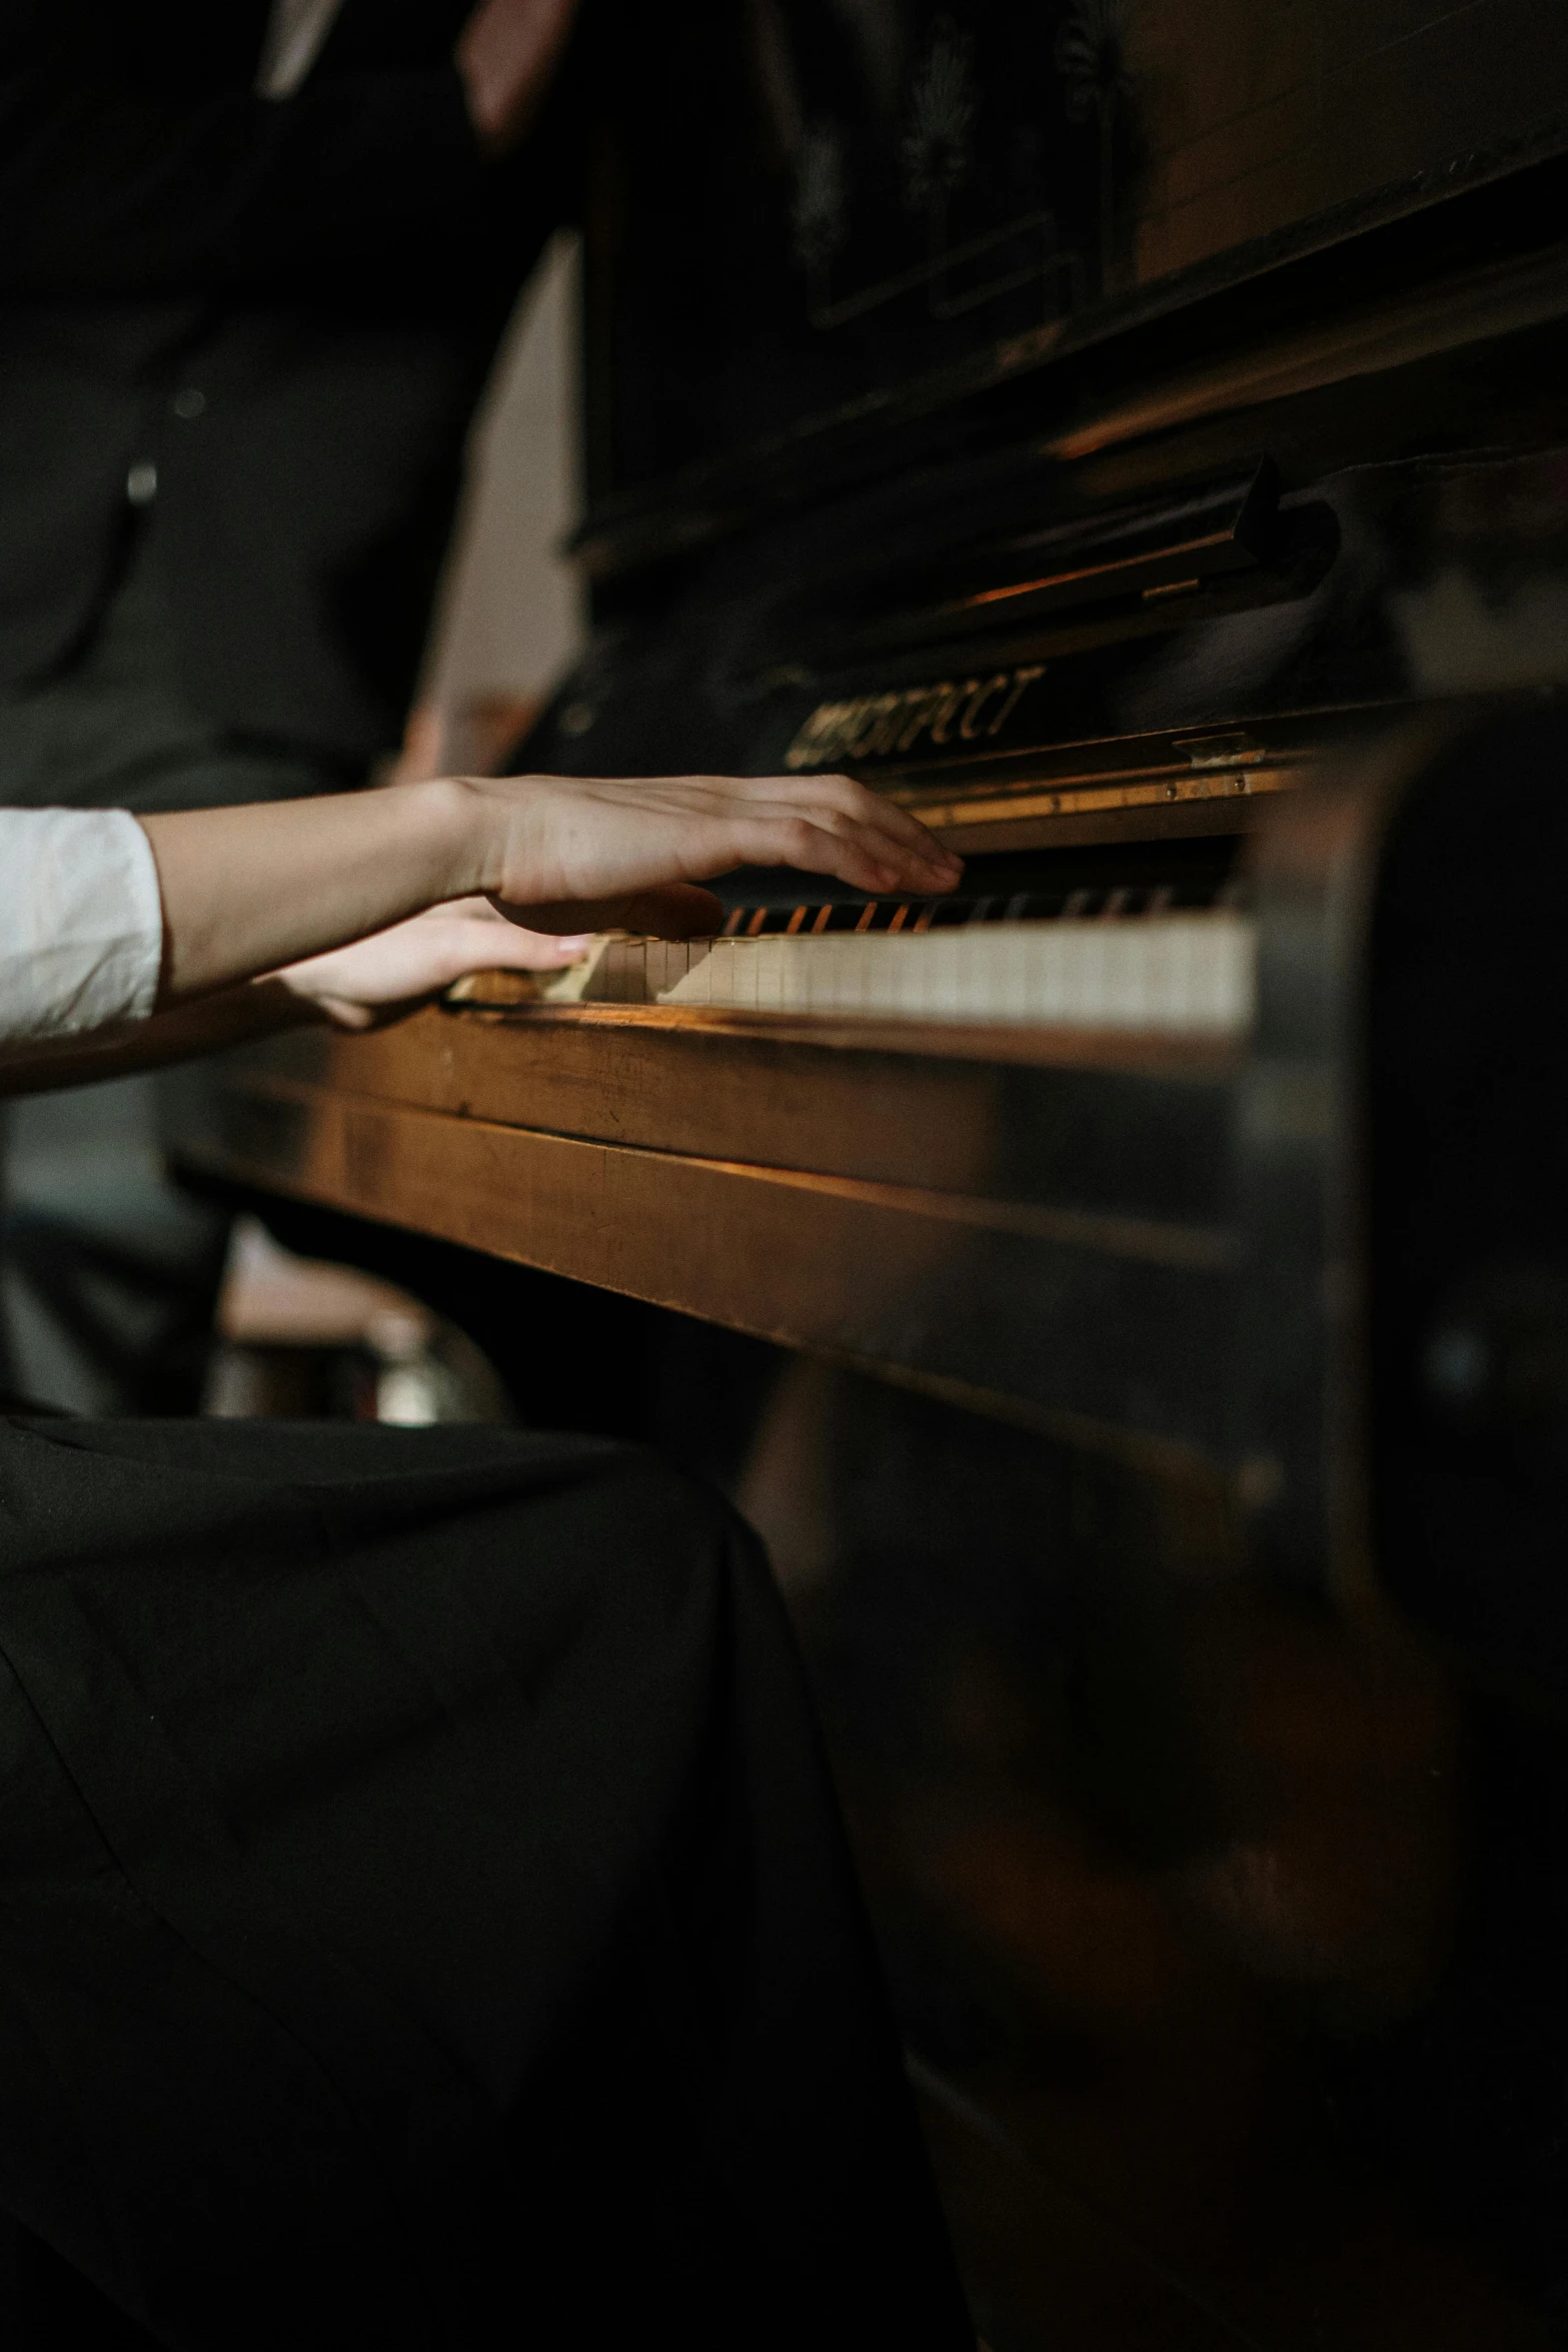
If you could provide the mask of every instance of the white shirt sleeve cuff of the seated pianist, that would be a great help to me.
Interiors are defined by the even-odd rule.
[[[0,1042],[146,1021],[160,962],[158,866],[127,809],[0,809]]]

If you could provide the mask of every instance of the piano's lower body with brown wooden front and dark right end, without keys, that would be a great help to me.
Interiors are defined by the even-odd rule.
[[[371,1228],[766,1536],[1006,2352],[1568,2314],[1566,757],[1474,708],[1281,790],[1229,1047],[451,1009],[188,1134],[743,1327]]]

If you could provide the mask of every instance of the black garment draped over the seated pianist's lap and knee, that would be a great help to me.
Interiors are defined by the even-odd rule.
[[[158,2343],[971,2347],[788,1625],[635,1449],[0,1421],[0,2206]]]

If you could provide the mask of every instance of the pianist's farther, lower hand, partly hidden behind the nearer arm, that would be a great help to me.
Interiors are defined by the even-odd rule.
[[[585,948],[588,936],[543,938],[508,922],[487,898],[454,898],[348,948],[287,964],[270,978],[336,1028],[367,1030],[400,1021],[470,971],[562,971]]]

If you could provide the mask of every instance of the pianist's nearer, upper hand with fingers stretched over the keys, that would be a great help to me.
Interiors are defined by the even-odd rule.
[[[475,877],[534,931],[717,931],[693,884],[736,866],[797,866],[875,896],[950,891],[964,866],[849,776],[463,779],[489,830]]]

